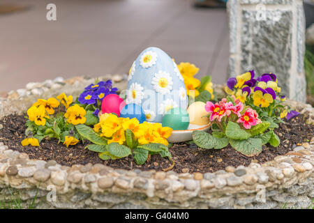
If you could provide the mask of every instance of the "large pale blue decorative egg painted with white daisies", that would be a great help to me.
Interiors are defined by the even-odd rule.
[[[157,47],[145,49],[134,61],[128,77],[126,104],[144,110],[149,122],[161,123],[174,107],[186,109],[188,96],[177,64]]]

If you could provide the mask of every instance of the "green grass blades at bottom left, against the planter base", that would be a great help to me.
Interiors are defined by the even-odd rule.
[[[0,200],[0,209],[24,209],[23,208],[23,201],[21,199],[20,191],[12,192],[8,187],[8,191],[10,192],[10,199],[3,199]],[[34,209],[36,208],[36,199],[38,196],[38,189],[36,190],[35,197],[31,200],[31,202],[27,203],[27,209]]]

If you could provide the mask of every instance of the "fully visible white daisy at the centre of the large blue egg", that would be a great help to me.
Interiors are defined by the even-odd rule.
[[[155,91],[165,95],[172,90],[172,77],[168,72],[159,70],[153,77],[151,84],[153,84]]]

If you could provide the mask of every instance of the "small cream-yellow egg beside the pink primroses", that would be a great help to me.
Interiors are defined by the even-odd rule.
[[[209,123],[209,118],[207,116],[208,112],[205,110],[204,102],[194,102],[188,107],[188,115],[190,116],[190,123],[195,125],[207,125]]]

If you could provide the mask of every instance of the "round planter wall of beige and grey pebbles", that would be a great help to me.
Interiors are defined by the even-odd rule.
[[[125,89],[126,80],[116,79],[119,89]],[[54,87],[45,91],[43,84],[38,84],[38,91],[43,91],[41,97],[61,92],[77,96],[93,81],[70,79],[58,86],[51,84]],[[222,86],[215,89],[223,94]],[[1,98],[0,118],[15,112],[23,114],[38,98],[36,91],[20,93],[23,96],[11,92],[8,98]],[[290,100],[287,104],[308,115],[306,123],[313,124],[311,105]],[[103,164],[66,167],[54,161],[30,160],[26,153],[5,146],[0,136],[1,194],[10,197],[9,190],[18,190],[25,203],[37,196],[37,208],[307,208],[314,197],[313,165],[314,138],[263,164],[251,162],[248,167],[227,167],[214,173],[177,174],[127,171]]]

